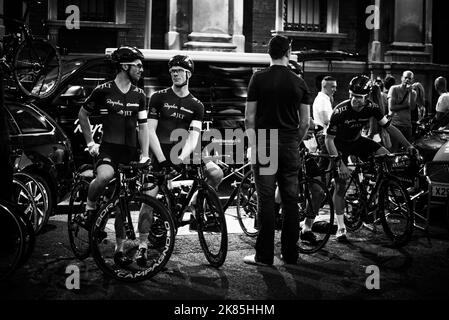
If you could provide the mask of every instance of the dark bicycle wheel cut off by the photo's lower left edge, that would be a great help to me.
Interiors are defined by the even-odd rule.
[[[26,230],[18,215],[0,204],[0,280],[19,267],[25,251]]]

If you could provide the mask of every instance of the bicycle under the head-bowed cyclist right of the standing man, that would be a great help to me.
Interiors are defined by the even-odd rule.
[[[405,155],[409,153],[374,155],[348,165],[354,167],[345,189],[344,221],[349,231],[358,230],[364,222],[374,228],[381,224],[393,247],[410,241],[414,226],[410,196],[391,173],[392,159]]]

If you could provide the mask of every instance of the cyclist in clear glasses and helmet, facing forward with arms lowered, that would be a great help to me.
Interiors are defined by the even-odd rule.
[[[151,96],[148,111],[149,144],[156,170],[188,163],[200,138],[204,116],[203,104],[189,91],[189,80],[194,72],[193,60],[186,55],[175,55],[168,61],[168,72],[172,86]],[[175,129],[188,132],[185,143],[171,139]],[[223,178],[222,170],[213,162],[206,163],[206,169],[208,182],[217,187]],[[154,196],[158,191],[157,187],[152,188],[148,194]],[[190,209],[194,211],[193,207]],[[145,207],[141,212],[151,218],[151,212]],[[146,242],[141,241],[137,254],[138,264],[145,263],[146,250]]]

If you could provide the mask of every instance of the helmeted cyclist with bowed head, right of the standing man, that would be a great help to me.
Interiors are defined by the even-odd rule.
[[[377,142],[362,137],[361,131],[371,117],[385,128],[392,139],[400,141],[402,145],[411,147],[402,133],[390,124],[383,115],[380,107],[370,100],[368,94],[371,90],[370,79],[366,76],[357,76],[349,83],[349,100],[343,101],[335,107],[327,129],[325,143],[330,155],[341,153],[342,160],[338,165],[339,179],[334,191],[334,205],[337,213],[337,240],[346,240],[346,228],[343,220],[345,209],[345,186],[350,171],[347,168],[347,158],[350,155],[366,159],[373,154],[386,154],[387,149]]]

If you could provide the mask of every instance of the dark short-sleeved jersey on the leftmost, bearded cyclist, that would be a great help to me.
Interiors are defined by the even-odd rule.
[[[87,98],[84,109],[99,113],[103,124],[102,142],[137,146],[137,121],[146,123],[147,118],[138,119],[140,111],[146,111],[145,92],[131,85],[123,93],[114,81],[99,85]]]

